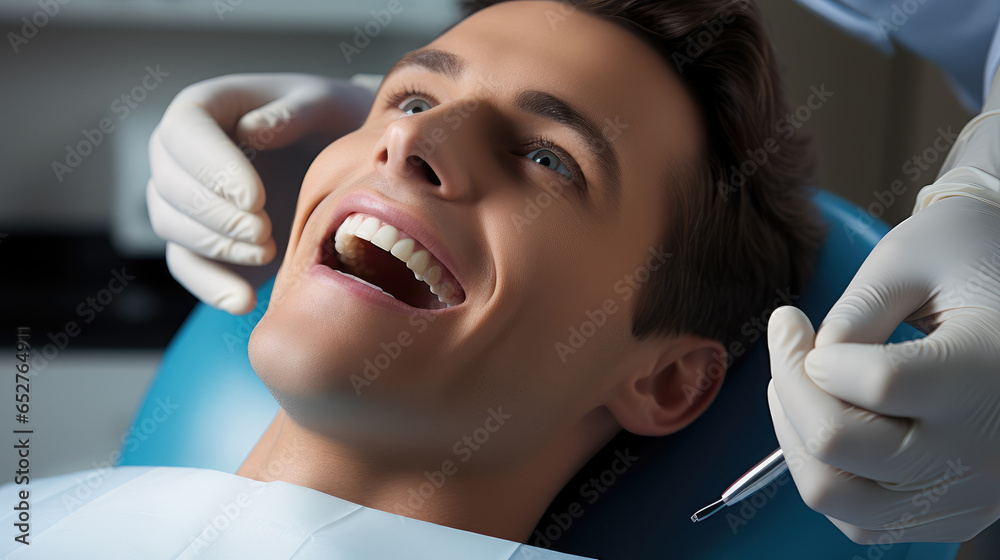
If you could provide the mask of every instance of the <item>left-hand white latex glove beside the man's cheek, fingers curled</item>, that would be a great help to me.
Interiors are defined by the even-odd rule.
[[[306,137],[329,142],[356,129],[377,81],[367,75],[348,82],[234,74],[177,94],[149,140],[146,189],[150,220],[167,240],[174,278],[213,307],[233,314],[252,310],[254,286],[238,267],[223,264],[261,265],[277,253],[264,186],[251,160],[261,150]],[[299,185],[268,188],[269,196],[294,201]],[[291,216],[282,218],[291,223]]]

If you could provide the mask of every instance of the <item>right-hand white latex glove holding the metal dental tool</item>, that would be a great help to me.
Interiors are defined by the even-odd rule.
[[[1000,517],[1000,88],[818,333],[768,325],[768,402],[806,504],[851,540],[958,542]],[[900,322],[928,334],[884,344]]]

